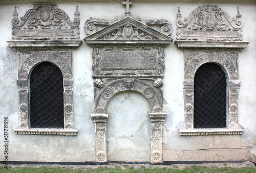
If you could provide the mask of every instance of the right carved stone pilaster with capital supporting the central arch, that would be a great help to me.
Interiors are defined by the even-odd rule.
[[[166,113],[151,113],[148,112],[151,118],[151,163],[163,162],[163,123]]]

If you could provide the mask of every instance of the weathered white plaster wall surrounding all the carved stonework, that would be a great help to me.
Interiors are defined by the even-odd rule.
[[[84,22],[90,17],[114,20],[115,16],[122,17],[125,8],[120,2],[105,4],[58,4],[58,8],[65,11],[71,19],[78,5],[80,12],[80,39],[86,37]],[[134,17],[140,16],[142,20],[167,19],[173,24],[172,38],[176,39],[177,9],[180,7],[182,17],[202,4],[168,4],[168,3],[134,3],[131,13]],[[163,130],[164,161],[200,161],[200,160],[252,160],[256,162],[256,5],[227,5],[215,4],[235,17],[237,6],[243,22],[243,40],[249,41],[247,48],[239,53],[239,75],[241,88],[239,91],[239,123],[244,127],[242,135],[229,136],[180,136],[178,130],[185,127],[183,105],[183,52],[174,43],[165,47],[165,77],[164,77],[164,109],[167,112]],[[24,16],[32,8],[32,4],[16,5],[18,17]],[[93,111],[93,80],[92,76],[92,47],[84,41],[74,51],[74,120],[75,128],[79,130],[77,136],[47,136],[47,135],[16,135],[13,129],[18,128],[18,92],[17,92],[17,56],[15,50],[8,47],[6,41],[12,39],[11,21],[14,5],[0,6],[0,128],[3,129],[4,117],[9,119],[9,160],[12,161],[66,161],[83,162],[95,161],[95,131],[90,117]],[[130,96],[129,96],[130,95]],[[120,103],[129,97],[129,103]],[[136,93],[123,92],[114,96],[109,103],[110,123],[108,125],[108,153],[111,160],[134,161],[134,152],[126,152],[127,158],[120,157],[115,149],[122,146],[122,142],[115,131],[125,134],[126,129],[115,129],[111,125],[126,127],[126,121],[118,119],[120,109],[127,119],[134,121],[134,129],[148,120],[145,110],[148,110],[146,101]],[[142,108],[136,103],[140,102]],[[127,106],[137,106],[130,111]],[[116,106],[116,107],[114,107]],[[112,109],[113,108],[113,109]],[[116,110],[116,111],[115,111]],[[119,110],[119,111],[118,111]],[[140,121],[134,119],[135,114],[141,114]],[[120,118],[120,117],[119,117]],[[120,120],[120,121],[119,121]],[[133,129],[133,130],[134,130]],[[148,129],[148,124],[144,127]],[[131,132],[132,134],[133,132]],[[148,132],[144,134],[148,140]],[[130,135],[127,133],[126,135]],[[131,136],[131,135],[130,135]],[[118,140],[114,140],[118,138]],[[148,143],[141,144],[149,146]],[[3,160],[3,130],[0,131],[0,159]],[[117,142],[114,146],[113,141]],[[143,142],[142,142],[143,141]],[[119,143],[118,143],[119,142]],[[130,140],[129,142],[132,142]],[[138,146],[136,144],[136,146]],[[131,151],[132,146],[127,146]],[[144,147],[143,146],[143,147]],[[113,150],[114,147],[114,150]],[[124,148],[122,148],[124,150]],[[137,148],[136,148],[137,150]],[[145,151],[145,147],[141,149]],[[150,147],[148,147],[148,151]],[[132,151],[135,151],[133,148]],[[124,153],[123,153],[124,154]],[[121,155],[123,155],[121,154]],[[254,155],[254,156],[253,156]],[[139,154],[139,161],[148,161],[146,151]],[[144,160],[143,160],[144,158]],[[131,159],[131,160],[130,160]]]

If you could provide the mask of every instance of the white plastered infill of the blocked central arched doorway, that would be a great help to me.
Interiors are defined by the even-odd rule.
[[[150,161],[151,122],[146,98],[135,91],[114,95],[106,111],[108,160]]]

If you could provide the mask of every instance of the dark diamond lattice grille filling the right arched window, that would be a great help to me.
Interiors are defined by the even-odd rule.
[[[226,76],[214,63],[201,65],[194,82],[194,128],[226,127]]]

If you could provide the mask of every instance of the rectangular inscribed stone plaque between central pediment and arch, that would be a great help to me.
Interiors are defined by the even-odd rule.
[[[156,69],[156,52],[109,52],[102,53],[101,69]]]

